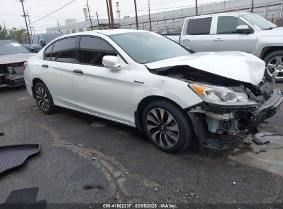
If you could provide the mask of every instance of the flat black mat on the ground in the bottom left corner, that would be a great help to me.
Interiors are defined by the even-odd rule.
[[[37,192],[39,192],[38,187],[14,190],[10,193],[6,201],[0,205],[0,209],[44,209],[46,207],[46,201],[36,201]]]

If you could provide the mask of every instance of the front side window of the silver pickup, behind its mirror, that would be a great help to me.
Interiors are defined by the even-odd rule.
[[[239,25],[247,25],[244,21],[238,17],[222,16],[218,17],[217,34],[235,34],[236,28]]]

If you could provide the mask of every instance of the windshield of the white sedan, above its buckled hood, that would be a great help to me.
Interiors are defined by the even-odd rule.
[[[128,32],[109,37],[140,64],[190,54],[178,43],[151,32]]]

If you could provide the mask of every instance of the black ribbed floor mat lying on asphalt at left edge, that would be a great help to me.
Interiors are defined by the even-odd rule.
[[[39,144],[0,146],[0,175],[21,166],[28,157],[40,150]]]

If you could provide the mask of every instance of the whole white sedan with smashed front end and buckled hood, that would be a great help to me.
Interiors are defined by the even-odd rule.
[[[60,106],[114,120],[177,152],[273,116],[282,92],[264,68],[244,52],[192,54],[152,32],[99,30],[52,41],[24,76],[44,113]]]

